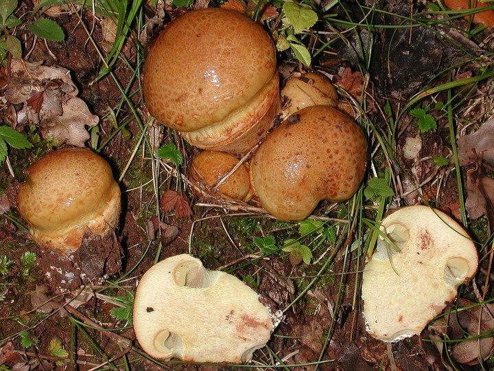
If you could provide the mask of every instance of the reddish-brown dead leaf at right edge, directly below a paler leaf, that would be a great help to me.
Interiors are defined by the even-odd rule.
[[[494,179],[488,177],[482,167],[482,153],[479,154],[475,168],[467,171],[467,201],[465,207],[470,218],[477,219],[485,215],[489,221],[489,231],[494,225]]]

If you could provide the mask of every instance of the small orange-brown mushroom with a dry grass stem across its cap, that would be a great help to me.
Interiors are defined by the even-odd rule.
[[[235,166],[237,169],[229,174]],[[228,175],[228,177],[226,177]],[[223,179],[226,179],[217,186]],[[189,168],[189,179],[199,190],[217,194],[221,198],[230,198],[248,202],[252,198],[250,179],[246,164],[231,153],[204,150],[193,158]]]

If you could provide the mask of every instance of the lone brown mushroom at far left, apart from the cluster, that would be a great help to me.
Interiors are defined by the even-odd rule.
[[[80,247],[86,228],[103,236],[117,225],[119,186],[108,163],[91,150],[55,150],[25,175],[17,208],[39,245],[66,255]]]

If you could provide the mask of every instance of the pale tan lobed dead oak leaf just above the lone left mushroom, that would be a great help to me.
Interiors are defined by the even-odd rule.
[[[80,98],[70,98],[62,104],[63,114],[56,115],[50,111],[40,113],[40,131],[44,138],[53,135],[59,144],[72,144],[84,147],[89,139],[86,126],[93,127],[99,117],[89,112],[88,106]]]

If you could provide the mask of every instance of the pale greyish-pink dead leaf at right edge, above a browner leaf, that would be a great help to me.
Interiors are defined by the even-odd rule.
[[[478,131],[458,139],[460,166],[469,166],[477,161],[475,153],[484,153],[484,161],[494,166],[494,117],[480,126]]]

